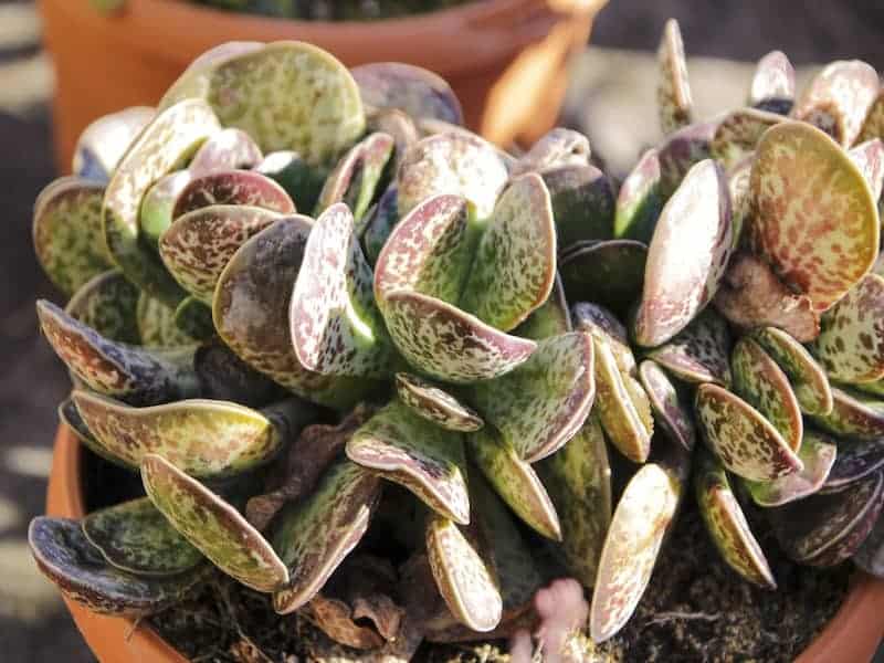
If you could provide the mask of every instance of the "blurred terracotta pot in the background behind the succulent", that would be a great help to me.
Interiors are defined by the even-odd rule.
[[[154,105],[200,53],[227,41],[295,39],[348,66],[408,62],[441,74],[467,124],[491,140],[533,140],[551,128],[568,56],[607,0],[485,0],[372,22],[243,15],[180,0],[126,0],[102,15],[90,0],[40,0],[55,64],[55,146],[67,171],[76,137],[96,117]]]

